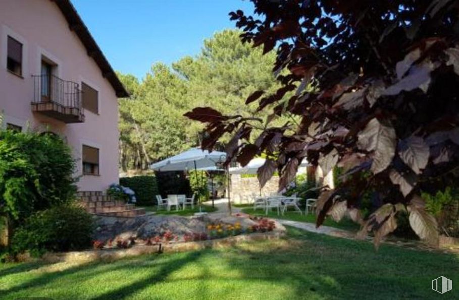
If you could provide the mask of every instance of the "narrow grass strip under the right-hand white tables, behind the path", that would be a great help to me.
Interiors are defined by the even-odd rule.
[[[266,216],[265,211],[258,209],[258,210],[253,210],[253,207],[247,207],[242,209],[242,212],[254,215],[254,216]],[[302,215],[299,214],[299,212],[295,211],[286,211],[284,215],[277,215],[277,211],[270,211],[268,212],[268,217],[273,218],[273,219],[284,219],[284,220],[292,220],[292,221],[298,221],[298,222],[308,222],[308,223],[316,223],[316,215],[315,214],[307,214]],[[340,222],[335,222],[331,218],[326,218],[324,221],[325,226],[330,226],[330,227],[335,227],[335,228],[341,228],[349,231],[357,231],[360,228],[360,225],[353,222],[350,219],[343,218]]]

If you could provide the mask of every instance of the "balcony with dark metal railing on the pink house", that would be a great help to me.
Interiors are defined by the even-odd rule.
[[[67,124],[84,122],[84,109],[78,83],[54,75],[32,77],[34,81],[32,111]]]

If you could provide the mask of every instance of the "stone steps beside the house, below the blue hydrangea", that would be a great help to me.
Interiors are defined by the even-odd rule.
[[[135,208],[134,204],[115,200],[99,191],[81,191],[77,194],[80,204],[90,214],[113,217],[136,217],[145,214],[145,209]]]

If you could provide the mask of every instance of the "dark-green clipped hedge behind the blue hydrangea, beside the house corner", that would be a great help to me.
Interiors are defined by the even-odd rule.
[[[131,188],[135,192],[137,204],[155,205],[158,193],[156,176],[134,176],[120,178],[120,185]]]

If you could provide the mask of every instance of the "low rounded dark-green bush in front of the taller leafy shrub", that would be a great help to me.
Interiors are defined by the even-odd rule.
[[[93,221],[83,208],[60,205],[28,217],[13,235],[12,250],[29,250],[39,256],[45,251],[82,250],[91,246]]]

